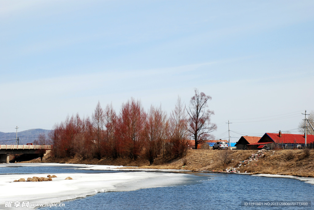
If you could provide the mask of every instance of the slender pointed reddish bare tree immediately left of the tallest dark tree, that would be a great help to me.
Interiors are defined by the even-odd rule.
[[[180,97],[169,119],[169,138],[171,154],[181,157],[187,151],[187,115]]]

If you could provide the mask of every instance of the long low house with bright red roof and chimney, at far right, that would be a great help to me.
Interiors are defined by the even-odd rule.
[[[306,144],[314,143],[314,135],[306,135]],[[248,149],[259,149],[261,145],[268,148],[293,149],[303,147],[305,145],[304,134],[288,134],[288,133],[265,133],[256,143],[247,144]],[[261,147],[260,147],[261,148]]]

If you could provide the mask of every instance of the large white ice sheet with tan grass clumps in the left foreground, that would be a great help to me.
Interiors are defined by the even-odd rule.
[[[0,175],[0,209],[6,209],[6,201],[57,203],[78,197],[86,197],[97,192],[132,191],[142,188],[185,185],[191,183],[191,177],[193,176],[181,173],[143,171],[53,175],[57,175],[57,178],[53,178],[52,181],[43,182],[13,182],[13,180],[18,180],[19,178],[26,180],[28,177],[33,176],[43,177],[44,174]],[[72,177],[73,180],[64,180],[68,176]],[[25,209],[25,207],[21,209]]]

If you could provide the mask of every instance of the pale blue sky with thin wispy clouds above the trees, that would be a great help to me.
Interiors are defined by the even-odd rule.
[[[228,120],[233,141],[295,129],[314,110],[313,11],[313,1],[0,1],[0,131],[51,129],[131,97],[170,113],[194,88],[213,98],[217,137]]]

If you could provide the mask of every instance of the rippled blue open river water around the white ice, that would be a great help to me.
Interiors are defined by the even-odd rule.
[[[63,166],[23,166],[0,169],[0,175],[120,172],[87,171],[79,170],[78,167]],[[129,173],[134,173],[134,171],[129,171]],[[65,207],[41,207],[40,209],[314,209],[314,206],[310,205],[314,198],[314,185],[299,180],[238,174],[184,173],[192,175],[190,182],[185,185],[97,193],[85,198],[64,201],[62,203]],[[253,202],[254,206],[252,204],[246,206],[245,202],[248,204]],[[308,206],[265,206],[272,202],[307,202]],[[255,204],[263,204],[263,206]],[[311,204],[314,205],[314,202]]]

